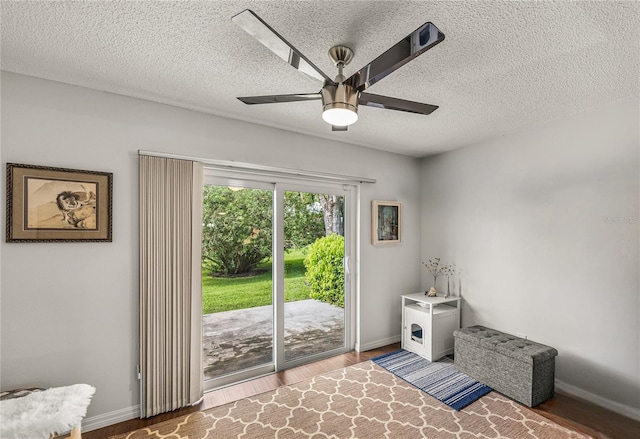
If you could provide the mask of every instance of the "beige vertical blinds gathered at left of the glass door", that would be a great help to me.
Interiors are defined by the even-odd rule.
[[[140,166],[140,417],[202,398],[202,165]]]

